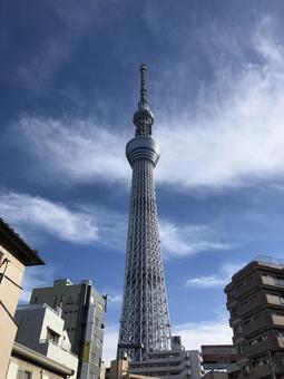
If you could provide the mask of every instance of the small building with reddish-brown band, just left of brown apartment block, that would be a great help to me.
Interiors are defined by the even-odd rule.
[[[233,344],[203,344],[204,370],[234,370],[236,368],[236,349]]]

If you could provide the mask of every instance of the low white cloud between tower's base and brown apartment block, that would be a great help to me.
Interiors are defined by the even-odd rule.
[[[202,344],[229,344],[233,336],[227,319],[188,322],[174,327],[173,332],[182,336],[187,350],[200,350]]]

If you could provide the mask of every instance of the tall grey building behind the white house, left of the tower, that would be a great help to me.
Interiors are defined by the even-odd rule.
[[[78,356],[78,379],[98,379],[102,354],[106,297],[86,280],[72,284],[68,279],[53,286],[33,289],[31,304],[47,303],[61,309],[71,351]]]

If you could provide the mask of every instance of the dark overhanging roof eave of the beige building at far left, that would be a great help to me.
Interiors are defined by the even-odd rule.
[[[0,243],[25,265],[42,265],[37,250],[31,249],[14,230],[0,217]]]

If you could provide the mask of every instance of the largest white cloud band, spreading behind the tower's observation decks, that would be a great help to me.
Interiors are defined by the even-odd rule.
[[[284,50],[267,23],[251,36],[258,64],[239,52],[239,70],[216,71],[216,82],[194,111],[176,109],[169,115],[161,109],[165,117],[155,129],[161,144],[159,182],[176,188],[224,187],[284,175]],[[52,167],[57,178],[115,182],[129,177],[124,157],[129,137],[94,120],[69,124],[32,117],[19,122],[29,142],[26,146],[36,149],[42,166]]]

